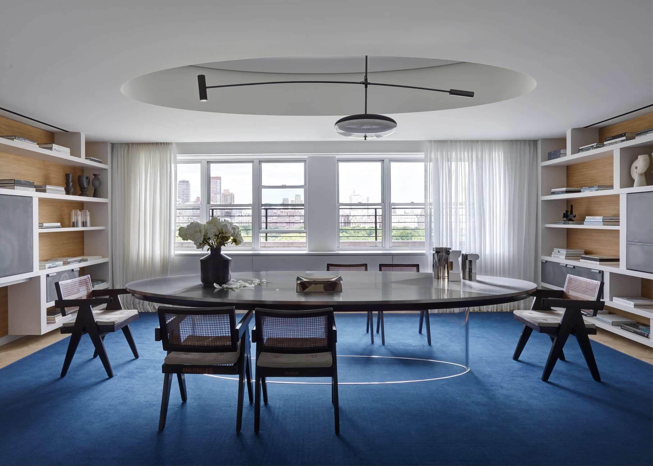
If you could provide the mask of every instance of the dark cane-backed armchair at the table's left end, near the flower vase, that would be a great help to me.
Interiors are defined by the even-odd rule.
[[[109,358],[104,348],[106,334],[122,330],[129,343],[134,358],[138,358],[138,350],[134,337],[129,329],[129,324],[138,318],[136,309],[123,309],[118,296],[129,294],[125,289],[93,290],[91,275],[84,275],[70,280],[59,281],[54,284],[57,291],[55,307],[59,307],[61,315],[69,318],[61,324],[62,334],[71,334],[66,357],[63,360],[61,377],[65,377],[75,355],[82,335],[88,334],[95,346],[93,358],[100,356],[100,360],[108,377],[114,377]],[[106,304],[105,309],[95,310],[93,306]]]

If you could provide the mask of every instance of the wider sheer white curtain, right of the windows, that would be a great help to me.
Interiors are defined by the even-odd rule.
[[[534,281],[537,142],[428,141],[424,163],[427,255],[477,253],[479,275]]]

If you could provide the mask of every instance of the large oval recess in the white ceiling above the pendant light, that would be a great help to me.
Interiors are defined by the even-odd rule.
[[[222,114],[279,116],[342,116],[364,113],[360,84],[265,84],[208,89],[200,102],[197,75],[206,85],[266,81],[363,80],[365,59],[355,57],[267,57],[221,61],[161,70],[123,84],[127,97],[170,108]],[[505,101],[535,88],[526,74],[490,65],[417,57],[370,56],[368,80],[437,89],[474,91],[465,99],[434,91],[400,87],[368,87],[368,112],[430,112]]]

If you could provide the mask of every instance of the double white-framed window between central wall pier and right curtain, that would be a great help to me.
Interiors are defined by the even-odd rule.
[[[424,162],[338,161],[338,211],[339,247],[423,248]]]

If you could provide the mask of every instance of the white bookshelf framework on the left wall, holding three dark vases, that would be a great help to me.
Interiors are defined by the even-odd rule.
[[[8,334],[9,335],[41,335],[61,326],[61,322],[48,324],[46,309],[54,302],[46,301],[46,276],[67,270],[84,268],[93,279],[106,280],[106,287],[111,285],[111,173],[110,144],[108,142],[86,142],[81,133],[55,133],[55,142],[71,148],[71,155],[65,155],[37,146],[14,142],[0,138],[0,152],[18,155],[25,158],[25,164],[31,160],[46,161],[63,166],[83,168],[84,175],[93,178],[99,174],[102,181],[103,197],[91,197],[93,187],[89,187],[89,196],[67,194],[37,193],[34,191],[18,191],[0,189],[0,194],[9,196],[27,196],[33,198],[33,268],[26,273],[0,277],[0,287],[7,287],[8,304]],[[103,163],[86,160],[86,155],[101,159]],[[73,180],[76,182],[76,180]],[[63,185],[65,180],[61,180]],[[84,210],[91,215],[91,225],[79,228],[39,228],[40,200],[69,201],[83,203]],[[52,205],[52,204],[50,204]],[[48,235],[61,232],[82,232],[84,234],[84,255],[102,256],[100,259],[89,260],[69,266],[39,270],[39,238],[41,234]]]

